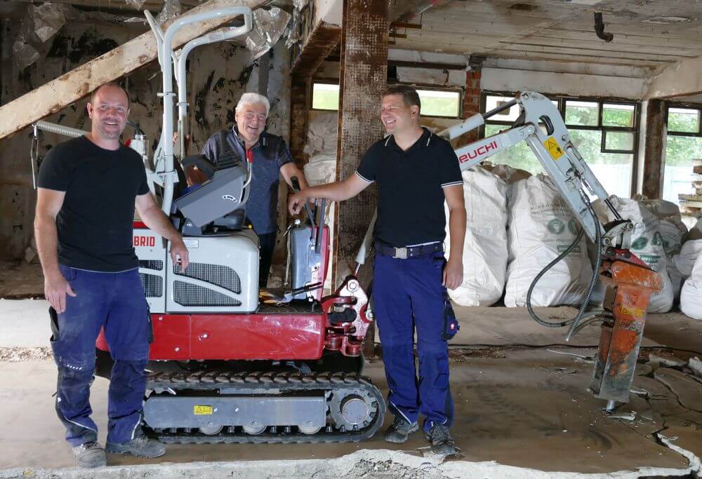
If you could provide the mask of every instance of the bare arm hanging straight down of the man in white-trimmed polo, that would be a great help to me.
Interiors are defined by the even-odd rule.
[[[455,290],[463,283],[463,239],[465,238],[465,203],[463,185],[454,184],[444,188],[446,204],[449,205],[449,238],[451,252],[444,269],[444,285]]]

